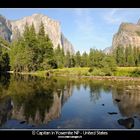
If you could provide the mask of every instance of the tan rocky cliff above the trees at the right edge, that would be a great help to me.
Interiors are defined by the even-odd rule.
[[[140,21],[137,24],[122,23],[112,41],[113,49],[118,46],[140,47]]]

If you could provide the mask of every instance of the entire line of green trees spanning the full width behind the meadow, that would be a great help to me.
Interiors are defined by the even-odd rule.
[[[41,23],[38,33],[34,24],[25,25],[24,33],[10,45],[3,41],[8,49],[2,47],[0,40],[0,71],[29,72],[54,68],[90,67],[113,71],[116,66],[140,66],[138,47],[118,46],[111,54],[91,48],[89,53],[77,51],[75,54],[64,53],[64,48],[57,48]]]

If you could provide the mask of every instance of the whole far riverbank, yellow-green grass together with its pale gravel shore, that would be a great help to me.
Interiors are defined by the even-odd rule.
[[[39,77],[57,76],[57,77],[69,77],[69,78],[70,77],[88,78],[88,79],[90,78],[95,80],[140,81],[139,73],[137,73],[136,76],[133,74],[134,71],[139,69],[140,69],[139,67],[117,67],[116,71],[111,76],[98,75],[98,73],[100,72],[99,71],[97,73],[98,69],[94,69],[93,71],[91,71],[89,67],[52,69],[48,71],[36,71],[36,72],[18,72],[16,74],[34,75]],[[9,71],[9,73],[14,73],[14,72]]]

